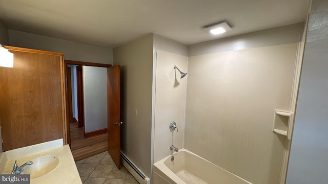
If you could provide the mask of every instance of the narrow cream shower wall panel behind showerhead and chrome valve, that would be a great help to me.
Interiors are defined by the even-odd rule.
[[[157,50],[156,56],[154,163],[171,154],[171,145],[183,147],[188,78],[187,75],[180,79],[180,73],[173,68],[176,65],[182,72],[187,72],[187,56],[162,50]],[[172,121],[176,122],[178,132],[169,129]]]

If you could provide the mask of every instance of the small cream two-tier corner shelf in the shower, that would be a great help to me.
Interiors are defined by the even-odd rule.
[[[275,109],[272,131],[280,135],[292,137],[292,128],[294,123],[294,112]]]

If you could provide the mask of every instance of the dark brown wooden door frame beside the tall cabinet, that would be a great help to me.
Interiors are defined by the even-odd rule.
[[[73,61],[73,60],[64,60],[64,86],[66,87],[65,90],[65,96],[66,99],[68,97],[68,91],[67,91],[67,65],[68,64],[72,64],[72,65],[83,65],[83,66],[97,66],[97,67],[109,67],[111,66],[111,64],[102,64],[102,63],[92,63],[92,62],[83,62],[83,61]],[[66,108],[68,104],[66,103]],[[71,137],[70,137],[70,121],[69,121],[69,116],[68,116],[68,110],[66,111],[66,126],[63,127],[64,128],[64,132],[65,132],[65,140],[64,140],[64,145],[69,144],[71,147]]]

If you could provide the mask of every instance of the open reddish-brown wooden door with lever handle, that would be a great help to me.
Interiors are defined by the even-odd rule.
[[[120,169],[120,66],[107,67],[108,152]]]

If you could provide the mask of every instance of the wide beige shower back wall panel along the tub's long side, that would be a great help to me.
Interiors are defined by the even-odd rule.
[[[297,43],[189,57],[185,148],[254,184],[279,182]]]

